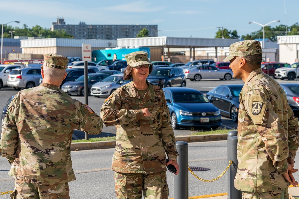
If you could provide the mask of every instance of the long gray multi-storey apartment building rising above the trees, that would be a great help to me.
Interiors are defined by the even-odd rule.
[[[158,36],[158,25],[88,25],[80,21],[77,25],[65,24],[64,18],[57,17],[57,22],[53,22],[51,30],[65,30],[75,39],[118,39],[134,38],[140,30],[149,30],[149,36]]]

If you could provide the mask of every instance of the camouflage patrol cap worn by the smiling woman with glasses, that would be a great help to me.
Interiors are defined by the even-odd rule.
[[[147,52],[136,51],[125,55],[125,59],[131,67],[140,66],[143,64],[152,64],[147,58]]]

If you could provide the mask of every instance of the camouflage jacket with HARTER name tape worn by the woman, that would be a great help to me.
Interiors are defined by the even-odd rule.
[[[133,82],[118,88],[101,108],[105,126],[116,125],[112,170],[123,173],[155,173],[166,170],[166,156],[177,161],[176,140],[161,87],[149,84],[141,100]],[[144,117],[141,109],[151,115]]]

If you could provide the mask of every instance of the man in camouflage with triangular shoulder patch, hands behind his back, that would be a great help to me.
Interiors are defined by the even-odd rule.
[[[259,41],[231,44],[229,55],[234,78],[245,84],[239,96],[238,169],[235,188],[243,199],[288,199],[289,183],[299,145],[298,119],[280,85],[261,70]]]

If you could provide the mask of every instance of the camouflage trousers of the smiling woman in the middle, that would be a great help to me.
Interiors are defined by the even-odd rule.
[[[168,198],[166,171],[142,173],[114,173],[115,194],[118,199],[141,199],[142,192],[145,199]]]

